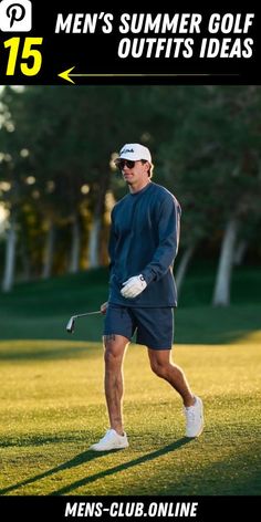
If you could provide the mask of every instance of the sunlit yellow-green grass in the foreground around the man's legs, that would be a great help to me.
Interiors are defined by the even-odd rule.
[[[227,345],[178,345],[175,362],[205,401],[206,429],[184,438],[181,403],[149,369],[144,347],[125,358],[130,446],[88,451],[107,427],[101,344],[0,343],[1,495],[258,495],[261,490],[261,332]]]

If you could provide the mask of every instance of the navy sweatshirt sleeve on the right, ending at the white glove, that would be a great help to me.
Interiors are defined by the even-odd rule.
[[[147,284],[160,280],[178,253],[181,209],[173,197],[165,198],[158,210],[158,247],[142,271]]]

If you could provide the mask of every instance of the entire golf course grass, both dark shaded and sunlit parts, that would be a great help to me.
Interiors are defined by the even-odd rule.
[[[0,300],[0,495],[259,495],[261,273],[233,273],[232,304],[210,305],[213,267],[189,270],[176,311],[174,358],[202,396],[206,429],[184,438],[181,403],[149,369],[125,359],[130,447],[88,451],[107,428],[102,316],[107,270],[17,284]]]

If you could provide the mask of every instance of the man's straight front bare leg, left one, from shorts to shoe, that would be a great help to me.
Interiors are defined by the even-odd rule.
[[[111,428],[118,435],[124,434],[123,426],[123,361],[129,341],[123,335],[104,335],[105,378],[104,388]]]

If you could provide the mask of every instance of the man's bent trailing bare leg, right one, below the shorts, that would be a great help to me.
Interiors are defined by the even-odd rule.
[[[192,406],[195,404],[195,396],[182,369],[171,362],[171,351],[148,348],[148,356],[153,372],[158,377],[167,380],[178,392],[182,397],[186,408]]]

